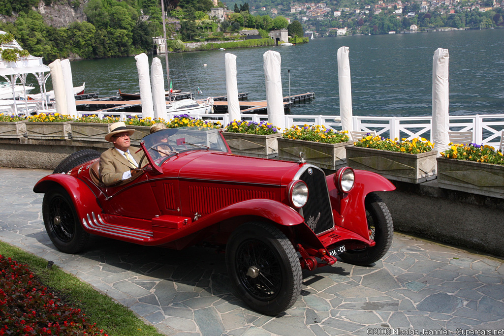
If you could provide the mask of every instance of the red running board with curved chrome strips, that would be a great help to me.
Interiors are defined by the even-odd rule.
[[[139,241],[149,241],[152,240],[154,236],[152,231],[129,228],[121,225],[106,223],[100,215],[98,215],[98,218],[96,218],[94,212],[91,213],[91,216],[87,214],[87,220],[86,218],[83,218],[82,224],[88,230],[93,230],[97,232],[106,233],[112,236],[124,237]]]

